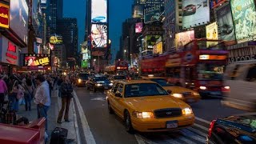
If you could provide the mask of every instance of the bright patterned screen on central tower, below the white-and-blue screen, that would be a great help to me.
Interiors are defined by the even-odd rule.
[[[91,25],[92,48],[107,47],[107,26],[100,24]]]

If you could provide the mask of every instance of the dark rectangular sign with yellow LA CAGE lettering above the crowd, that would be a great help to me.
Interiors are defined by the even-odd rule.
[[[50,54],[24,54],[24,66],[51,66]]]

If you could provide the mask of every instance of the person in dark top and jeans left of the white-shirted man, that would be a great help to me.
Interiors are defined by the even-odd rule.
[[[34,88],[32,86],[32,80],[30,78],[26,78],[26,81],[23,83],[25,88],[24,98],[25,98],[25,110],[31,110],[31,101],[34,98]]]

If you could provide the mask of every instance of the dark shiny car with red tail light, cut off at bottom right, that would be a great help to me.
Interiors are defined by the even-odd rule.
[[[210,122],[206,143],[256,143],[256,113],[218,118]]]

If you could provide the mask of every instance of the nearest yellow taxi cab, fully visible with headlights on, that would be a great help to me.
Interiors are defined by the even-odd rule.
[[[191,107],[156,82],[130,80],[116,82],[106,96],[110,114],[124,120],[132,132],[167,131],[194,125]]]

